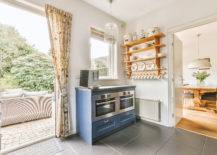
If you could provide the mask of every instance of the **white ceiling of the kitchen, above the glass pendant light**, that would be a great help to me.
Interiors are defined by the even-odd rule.
[[[114,0],[112,13],[108,0],[83,0],[90,5],[120,19],[130,21],[177,0]]]

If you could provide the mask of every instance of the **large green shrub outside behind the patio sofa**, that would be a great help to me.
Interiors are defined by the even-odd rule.
[[[3,88],[53,91],[54,87],[54,68],[50,56],[40,53],[29,45],[15,28],[2,24],[0,24],[0,81],[4,83]]]

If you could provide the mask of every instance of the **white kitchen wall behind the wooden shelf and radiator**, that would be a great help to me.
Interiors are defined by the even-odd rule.
[[[154,5],[154,4],[150,4]],[[159,26],[161,30],[167,32],[177,26],[192,23],[195,20],[206,18],[217,14],[216,0],[181,0],[165,6],[162,9],[150,12],[145,16],[132,20],[127,23],[128,32],[139,32],[141,29],[146,29],[153,26]],[[162,40],[167,44],[167,39]],[[164,48],[163,51],[168,51]],[[169,55],[169,53],[167,53]],[[163,65],[169,67],[168,58],[162,62]],[[171,126],[170,123],[172,114],[170,113],[171,103],[169,103],[169,81],[164,80],[135,80],[131,81],[137,86],[137,97],[144,99],[160,99],[162,100],[162,121],[160,124]]]

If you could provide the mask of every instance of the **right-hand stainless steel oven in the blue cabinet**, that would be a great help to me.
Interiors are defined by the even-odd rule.
[[[135,109],[134,91],[120,92],[119,111],[129,111]]]

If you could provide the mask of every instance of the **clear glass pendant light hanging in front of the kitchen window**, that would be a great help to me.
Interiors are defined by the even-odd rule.
[[[109,0],[110,11],[112,14],[112,3],[113,0]],[[115,43],[118,38],[118,26],[114,22],[108,22],[105,24],[105,41]]]

